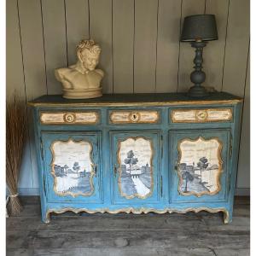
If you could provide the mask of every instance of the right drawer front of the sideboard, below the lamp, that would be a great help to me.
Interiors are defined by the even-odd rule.
[[[172,123],[207,123],[230,122],[233,120],[232,108],[198,108],[173,109],[171,111]]]

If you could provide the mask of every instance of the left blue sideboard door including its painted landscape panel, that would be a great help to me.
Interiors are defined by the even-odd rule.
[[[41,133],[48,202],[101,202],[100,142],[98,131]]]

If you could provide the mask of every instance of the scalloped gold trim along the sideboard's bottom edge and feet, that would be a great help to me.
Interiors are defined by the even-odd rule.
[[[96,213],[96,212],[100,212],[100,213],[104,213],[104,212],[108,212],[108,213],[113,213],[113,214],[117,214],[120,212],[125,212],[125,213],[134,213],[134,214],[141,214],[141,213],[148,213],[148,212],[155,212],[155,213],[159,213],[159,214],[163,214],[163,213],[187,213],[187,212],[201,212],[201,211],[207,211],[207,212],[212,212],[212,213],[216,213],[216,212],[224,212],[224,224],[228,224],[230,222],[230,212],[224,208],[224,207],[220,207],[220,208],[210,208],[210,207],[198,207],[198,208],[185,208],[182,210],[178,210],[178,209],[173,209],[173,208],[165,208],[163,210],[157,210],[154,208],[132,208],[132,207],[128,207],[128,208],[123,208],[123,209],[118,209],[118,210],[110,210],[109,208],[100,208],[100,209],[96,209],[96,210],[90,210],[87,208],[73,208],[73,207],[68,207],[68,208],[62,208],[60,210],[57,209],[49,209],[46,212],[46,221],[45,223],[49,223],[50,222],[50,218],[49,218],[49,214],[50,213],[63,213],[63,212],[74,212],[74,213],[79,213],[79,212],[87,212],[87,213]]]

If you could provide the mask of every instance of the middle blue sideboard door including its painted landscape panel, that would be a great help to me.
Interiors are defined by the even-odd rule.
[[[113,131],[114,204],[160,201],[160,132]]]

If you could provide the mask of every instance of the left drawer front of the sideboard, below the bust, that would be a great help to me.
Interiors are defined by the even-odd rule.
[[[100,121],[98,111],[40,112],[42,125],[96,125]]]

